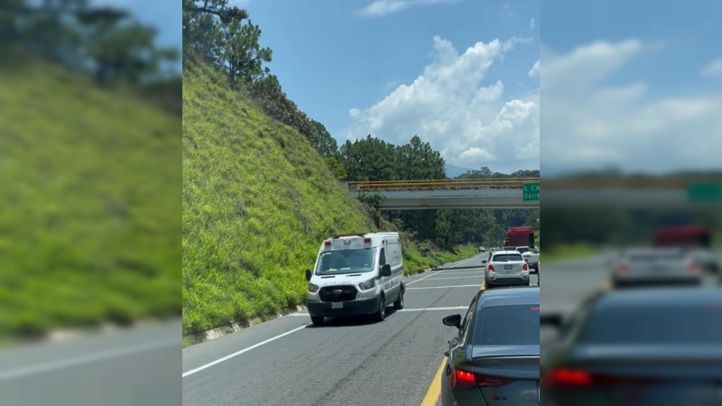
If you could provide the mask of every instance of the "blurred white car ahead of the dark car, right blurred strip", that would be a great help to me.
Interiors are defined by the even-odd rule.
[[[679,248],[634,248],[616,262],[615,287],[627,285],[699,285],[702,269],[693,254]]]

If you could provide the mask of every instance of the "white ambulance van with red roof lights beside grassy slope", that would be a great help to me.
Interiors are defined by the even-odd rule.
[[[316,267],[306,270],[308,309],[315,325],[325,317],[386,318],[403,309],[403,255],[398,233],[336,235],[321,245]]]

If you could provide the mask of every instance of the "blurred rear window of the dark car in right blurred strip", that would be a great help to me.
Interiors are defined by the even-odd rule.
[[[614,306],[597,309],[582,330],[587,344],[720,344],[722,303],[717,305]]]

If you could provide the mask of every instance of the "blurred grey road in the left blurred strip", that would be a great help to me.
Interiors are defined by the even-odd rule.
[[[180,319],[0,351],[0,404],[178,405]]]

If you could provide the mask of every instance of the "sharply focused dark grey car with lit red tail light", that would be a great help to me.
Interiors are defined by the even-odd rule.
[[[539,288],[479,291],[449,342],[441,374],[444,405],[539,404]]]

